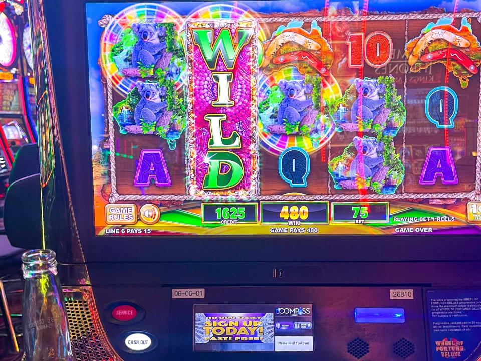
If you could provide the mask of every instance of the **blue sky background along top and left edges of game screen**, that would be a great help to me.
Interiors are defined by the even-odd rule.
[[[336,9],[349,8],[354,13],[363,8],[367,3],[368,11],[378,12],[412,12],[437,6],[453,12],[464,8],[481,11],[481,0],[365,0],[365,1],[316,1],[316,0],[270,0],[270,1],[248,1],[248,2],[161,2],[180,15],[187,16],[198,8],[208,4],[231,4],[239,8],[249,7],[255,12],[300,12],[312,9],[323,9],[326,4]],[[92,145],[98,143],[99,136],[103,133],[104,127],[104,99],[102,85],[100,82],[100,69],[98,59],[100,56],[100,37],[103,29],[97,25],[97,21],[105,14],[115,15],[122,9],[135,3],[88,3],[86,5],[87,14],[87,39],[88,39],[88,59],[89,59],[89,87],[90,87],[90,112]],[[138,4],[138,3],[137,3]]]

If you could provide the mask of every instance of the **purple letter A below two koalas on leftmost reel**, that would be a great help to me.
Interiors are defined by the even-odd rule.
[[[167,164],[160,149],[144,149],[140,152],[134,186],[148,187],[152,179],[157,187],[172,186]]]

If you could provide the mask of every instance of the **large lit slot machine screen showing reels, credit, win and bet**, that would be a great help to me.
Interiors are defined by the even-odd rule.
[[[88,3],[86,17],[97,236],[481,234],[469,11]]]

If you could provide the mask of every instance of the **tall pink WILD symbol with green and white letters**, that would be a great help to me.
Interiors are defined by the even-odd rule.
[[[257,191],[256,41],[251,21],[187,23],[191,195]]]

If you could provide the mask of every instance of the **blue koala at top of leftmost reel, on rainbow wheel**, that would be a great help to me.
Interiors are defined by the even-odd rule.
[[[164,40],[167,33],[164,27],[155,24],[132,24],[132,31],[139,38],[132,51],[132,65],[152,66],[160,60],[167,44]]]

